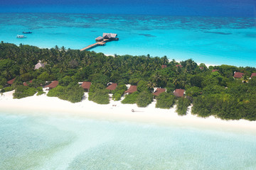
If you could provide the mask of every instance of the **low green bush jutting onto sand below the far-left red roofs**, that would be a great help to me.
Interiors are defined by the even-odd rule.
[[[36,94],[36,88],[28,86],[17,86],[14,91],[14,98],[25,98]]]

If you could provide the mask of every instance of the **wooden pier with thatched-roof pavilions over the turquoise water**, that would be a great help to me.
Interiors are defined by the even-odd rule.
[[[114,33],[103,33],[102,37],[95,38],[96,42],[92,45],[88,45],[87,47],[82,48],[80,51],[84,50],[90,50],[94,47],[97,47],[99,45],[103,46],[106,45],[107,42],[112,41],[112,40],[119,40],[117,38],[117,34]]]

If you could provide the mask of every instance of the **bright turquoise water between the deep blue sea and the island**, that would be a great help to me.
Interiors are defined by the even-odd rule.
[[[16,38],[23,31],[33,33]],[[256,66],[253,17],[0,13],[0,40],[16,45],[81,49],[102,33],[119,37],[92,49],[108,55],[166,55],[178,61]]]

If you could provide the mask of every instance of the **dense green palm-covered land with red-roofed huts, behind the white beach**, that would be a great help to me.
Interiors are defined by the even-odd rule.
[[[192,106],[191,113],[201,117],[256,120],[255,73],[254,67],[206,67],[166,56],[107,56],[58,46],[0,44],[1,93],[14,91],[14,98],[47,91],[49,97],[78,103],[88,92],[88,100],[98,104],[112,98],[146,107],[156,100],[156,108],[176,105],[178,115],[186,115]]]

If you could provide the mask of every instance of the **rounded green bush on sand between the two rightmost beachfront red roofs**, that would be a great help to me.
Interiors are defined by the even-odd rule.
[[[156,97],[156,108],[171,108],[175,103],[175,96],[169,93],[161,93]]]

